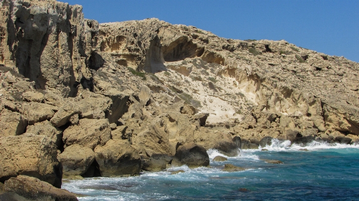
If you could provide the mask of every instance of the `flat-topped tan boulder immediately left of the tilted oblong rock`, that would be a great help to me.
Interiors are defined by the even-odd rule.
[[[59,108],[53,105],[31,102],[28,105],[24,104],[20,112],[24,114],[29,124],[32,125],[36,122],[52,118],[55,111],[58,110]]]

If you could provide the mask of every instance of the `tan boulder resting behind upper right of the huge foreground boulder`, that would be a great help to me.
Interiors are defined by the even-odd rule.
[[[34,125],[29,125],[26,128],[26,133],[32,133],[34,135],[47,136],[51,139],[57,149],[62,145],[62,130],[54,127],[49,121],[37,122]]]

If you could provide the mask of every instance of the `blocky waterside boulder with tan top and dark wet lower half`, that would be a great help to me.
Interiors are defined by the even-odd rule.
[[[141,170],[138,151],[127,140],[110,140],[105,146],[97,146],[95,156],[104,177],[139,175]]]

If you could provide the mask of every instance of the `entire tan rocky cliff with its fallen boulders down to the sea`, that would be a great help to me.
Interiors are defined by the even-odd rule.
[[[1,4],[0,151],[17,156],[0,157],[1,182],[195,167],[203,150],[272,138],[358,142],[356,62],[158,19],[98,24],[52,0]],[[11,148],[27,138],[38,154]]]

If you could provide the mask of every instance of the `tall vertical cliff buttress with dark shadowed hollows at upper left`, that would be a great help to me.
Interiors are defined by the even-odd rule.
[[[16,66],[38,89],[76,95],[74,86],[80,83],[86,53],[90,53],[86,45],[91,46],[87,44],[90,28],[84,23],[82,7],[53,0],[6,0],[2,11],[1,32],[6,37],[0,46],[1,63]]]

